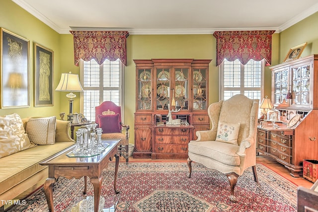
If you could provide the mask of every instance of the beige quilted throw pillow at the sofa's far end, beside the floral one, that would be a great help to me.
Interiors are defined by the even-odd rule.
[[[26,124],[26,133],[32,143],[39,145],[55,143],[56,116],[30,118]]]

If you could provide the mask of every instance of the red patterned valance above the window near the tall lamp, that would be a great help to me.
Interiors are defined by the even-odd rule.
[[[70,31],[74,36],[75,65],[79,59],[96,60],[100,65],[104,60],[115,61],[118,58],[127,64],[126,38],[128,31]]]

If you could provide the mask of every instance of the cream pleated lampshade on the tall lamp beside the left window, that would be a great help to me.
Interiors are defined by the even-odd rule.
[[[82,92],[83,88],[79,82],[79,75],[70,73],[62,73],[59,85],[55,91]]]

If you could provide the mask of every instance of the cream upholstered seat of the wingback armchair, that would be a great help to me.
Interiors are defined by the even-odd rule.
[[[188,151],[231,166],[239,166],[240,164],[239,155],[237,154],[239,146],[235,144],[219,141],[192,141],[188,145]]]

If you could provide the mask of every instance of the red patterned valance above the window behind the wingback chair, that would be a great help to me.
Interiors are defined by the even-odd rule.
[[[216,31],[217,39],[217,66],[224,59],[234,61],[239,59],[246,64],[250,59],[260,61],[265,58],[266,65],[272,60],[273,30],[263,31]]]

